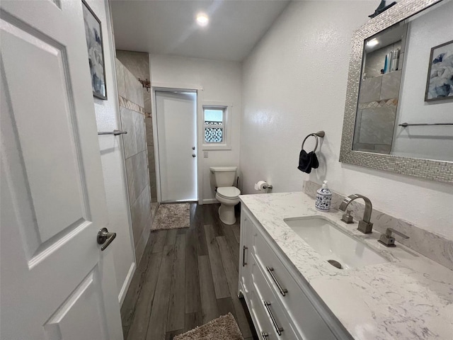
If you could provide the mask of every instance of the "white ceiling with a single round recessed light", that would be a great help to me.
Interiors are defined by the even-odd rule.
[[[118,50],[242,61],[289,1],[118,1],[110,2]],[[195,16],[210,16],[207,27]]]

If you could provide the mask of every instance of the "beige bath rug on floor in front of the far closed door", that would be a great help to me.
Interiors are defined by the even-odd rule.
[[[190,225],[189,207],[189,203],[159,205],[151,230],[188,228]]]

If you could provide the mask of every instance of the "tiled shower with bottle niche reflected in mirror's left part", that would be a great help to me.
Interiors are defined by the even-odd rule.
[[[407,28],[397,24],[365,40],[354,150],[391,152]]]

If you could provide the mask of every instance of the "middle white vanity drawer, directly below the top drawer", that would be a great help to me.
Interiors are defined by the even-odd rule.
[[[261,318],[264,319],[263,329],[269,334],[268,339],[302,339],[296,335],[297,332],[294,331],[292,324],[287,319],[287,315],[283,312],[283,307],[266,281],[260,266],[253,266],[251,275],[253,278],[253,292],[256,292],[255,296],[256,300],[258,300],[254,303],[256,304],[256,310],[260,309]]]

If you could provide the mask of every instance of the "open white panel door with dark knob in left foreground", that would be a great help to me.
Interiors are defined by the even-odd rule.
[[[0,20],[1,339],[122,339],[82,3]]]

